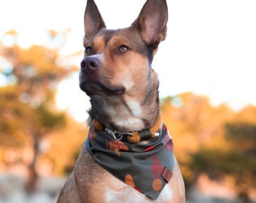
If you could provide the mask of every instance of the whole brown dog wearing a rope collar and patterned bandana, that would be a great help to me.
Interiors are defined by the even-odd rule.
[[[130,27],[106,29],[87,0],[79,85],[90,130],[57,202],[185,202],[151,68],[167,19],[166,0],[148,0]]]

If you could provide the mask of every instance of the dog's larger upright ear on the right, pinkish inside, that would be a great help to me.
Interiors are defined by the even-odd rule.
[[[168,10],[166,0],[148,0],[132,24],[147,44],[157,48],[166,38]]]

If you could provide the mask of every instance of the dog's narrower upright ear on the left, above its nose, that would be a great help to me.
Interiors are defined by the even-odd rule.
[[[87,8],[84,13],[85,38],[93,38],[100,29],[105,29],[105,23],[99,9],[93,0],[87,0]]]

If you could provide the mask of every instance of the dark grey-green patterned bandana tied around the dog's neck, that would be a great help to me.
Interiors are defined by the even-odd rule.
[[[172,138],[166,126],[148,144],[117,141],[105,132],[90,129],[87,150],[102,168],[148,197],[157,199],[172,177]]]

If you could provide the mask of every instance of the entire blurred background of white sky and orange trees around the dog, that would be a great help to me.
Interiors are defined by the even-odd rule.
[[[145,0],[96,0],[110,29]],[[256,202],[256,2],[170,1],[153,67],[187,202]],[[86,0],[0,2],[0,202],[55,202],[87,137]]]

